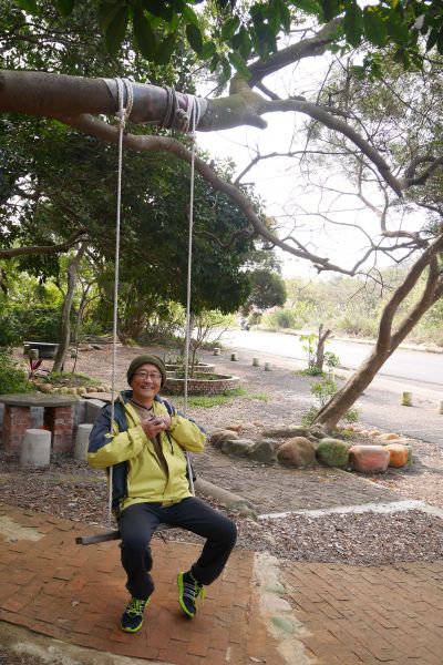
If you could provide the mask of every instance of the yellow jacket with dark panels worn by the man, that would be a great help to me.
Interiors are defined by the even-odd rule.
[[[190,420],[171,413],[168,432],[161,432],[159,442],[168,474],[146,437],[137,412],[127,401],[131,391],[121,395],[114,405],[113,433],[111,434],[111,406],[102,409],[92,429],[87,461],[95,469],[113,467],[113,508],[117,512],[134,503],[175,503],[190,497],[186,475],[184,450],[202,452],[206,434]],[[153,402],[155,416],[169,413],[164,401]]]

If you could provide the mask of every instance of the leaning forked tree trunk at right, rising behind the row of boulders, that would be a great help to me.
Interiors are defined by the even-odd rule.
[[[442,297],[443,277],[439,273],[436,258],[442,246],[443,236],[440,236],[415,262],[403,284],[395,289],[383,309],[375,348],[344,386],[320,409],[315,419],[316,424],[326,426],[328,430],[334,429],[338,421],[372,382],[377,372],[419,323],[424,313]],[[426,266],[429,266],[429,277],[421,299],[399,325],[396,332],[392,334],[392,321],[399,305],[410,294]]]

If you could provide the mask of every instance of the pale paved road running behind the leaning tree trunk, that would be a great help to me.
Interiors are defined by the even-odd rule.
[[[259,356],[277,367],[306,367],[306,357],[295,336],[235,330],[225,335],[223,344],[249,358]],[[354,342],[332,341],[328,348],[350,369],[369,352],[368,345]],[[443,415],[439,413],[439,401],[443,399],[443,355],[398,349],[388,362],[390,365],[379,372],[357,402],[361,421],[436,443],[443,449]],[[341,369],[339,374],[346,377],[350,372]],[[413,393],[412,408],[401,406],[404,390]]]

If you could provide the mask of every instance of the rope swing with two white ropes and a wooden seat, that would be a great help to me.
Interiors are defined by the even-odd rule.
[[[109,80],[105,80],[106,85],[112,93],[112,86]],[[115,222],[115,268],[114,268],[114,297],[113,297],[113,331],[112,331],[112,381],[111,381],[111,429],[114,424],[115,412],[115,390],[116,390],[116,347],[117,347],[117,318],[119,318],[119,278],[120,278],[120,228],[121,228],[121,211],[122,211],[122,174],[123,174],[123,135],[126,127],[126,122],[131,115],[134,103],[133,84],[128,79],[115,78],[117,108],[119,111],[115,117],[119,123],[119,168],[117,168],[117,196],[116,196],[116,222]],[[166,90],[166,106],[164,116],[159,126],[171,129],[178,126],[183,132],[190,133],[192,153],[190,153],[190,185],[189,185],[189,215],[188,215],[188,260],[187,260],[187,285],[186,285],[186,323],[185,323],[185,381],[184,381],[184,415],[187,416],[187,386],[188,386],[188,362],[189,362],[189,346],[190,346],[190,288],[192,288],[192,267],[193,267],[193,227],[194,227],[194,182],[195,182],[195,146],[196,134],[195,127],[198,125],[200,117],[199,100],[195,95],[187,94],[187,110],[179,109],[178,99],[173,88],[165,86]],[[125,105],[126,102],[126,105]],[[192,131],[190,131],[192,130]],[[189,489],[195,495],[193,470],[190,466],[190,456],[187,452],[187,474],[189,479]],[[112,528],[112,485],[113,485],[113,467],[107,469],[107,525]],[[168,524],[159,524],[156,532],[162,532],[169,529]],[[119,540],[120,531],[113,530],[101,533],[99,535],[79,536],[75,542],[81,545],[90,545],[109,540]]]

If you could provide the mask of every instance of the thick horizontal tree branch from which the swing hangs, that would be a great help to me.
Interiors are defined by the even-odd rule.
[[[131,120],[159,124],[166,106],[163,88],[134,83],[134,106]],[[231,94],[216,100],[203,100],[205,111],[197,130],[210,132],[239,125],[265,129],[261,115],[276,112],[299,112],[347,136],[377,166],[382,178],[401,196],[401,183],[393,176],[381,154],[356,130],[323,109],[302,99],[265,100],[238,76],[231,82]],[[186,95],[177,93],[179,108],[185,110]],[[65,117],[84,114],[112,115],[117,104],[102,79],[83,79],[43,72],[0,72],[0,111],[44,115],[63,122]]]

